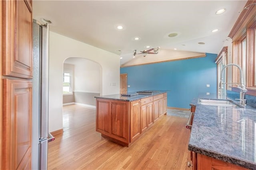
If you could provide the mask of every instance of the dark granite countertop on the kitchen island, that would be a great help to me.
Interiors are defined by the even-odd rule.
[[[153,94],[138,94],[136,96],[131,96],[131,97],[126,97],[126,96],[121,96],[121,94],[112,94],[112,95],[106,95],[106,96],[95,96],[95,98],[102,98],[102,99],[112,99],[112,100],[121,100],[121,101],[127,101],[127,102],[132,102],[135,100],[147,98],[150,96],[155,96],[158,94],[162,94],[167,92],[168,90],[158,90],[159,92],[153,93]],[[136,92],[129,92],[127,94],[135,94]]]

